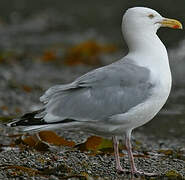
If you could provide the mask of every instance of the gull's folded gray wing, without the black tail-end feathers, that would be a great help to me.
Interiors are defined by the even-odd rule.
[[[41,97],[46,122],[103,120],[127,112],[150,96],[150,72],[128,62],[91,71],[73,83],[50,88]]]

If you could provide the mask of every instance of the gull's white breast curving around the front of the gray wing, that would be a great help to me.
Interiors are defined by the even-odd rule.
[[[172,84],[168,55],[163,44],[161,49],[156,50],[156,52],[154,48],[152,52],[145,51],[140,54],[129,54],[129,58],[136,59],[135,63],[137,65],[150,70],[150,81],[155,84],[155,87],[151,96],[145,102],[131,108],[127,113],[113,117],[117,126],[114,126],[112,130],[118,134],[150,121],[165,104]]]

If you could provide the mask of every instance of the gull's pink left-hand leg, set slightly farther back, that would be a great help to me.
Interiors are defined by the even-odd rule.
[[[114,143],[114,156],[116,159],[116,170],[119,172],[123,172],[124,170],[121,167],[120,158],[119,158],[119,141],[117,140],[116,136],[113,136],[112,139]]]

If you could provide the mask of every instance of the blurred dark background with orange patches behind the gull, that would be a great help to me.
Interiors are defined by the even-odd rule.
[[[48,87],[124,56],[121,19],[133,6],[185,25],[184,0],[1,0],[0,116],[37,109]],[[169,52],[173,89],[160,114],[137,131],[184,142],[185,31],[162,28],[158,34]]]

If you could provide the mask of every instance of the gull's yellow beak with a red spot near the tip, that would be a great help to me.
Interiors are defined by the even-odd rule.
[[[159,22],[162,27],[169,27],[169,28],[173,28],[173,29],[183,29],[182,24],[175,19],[168,19],[165,18],[163,19],[163,21]]]

